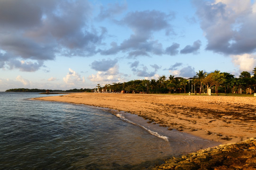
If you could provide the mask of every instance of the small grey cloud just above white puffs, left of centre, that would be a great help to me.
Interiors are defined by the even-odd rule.
[[[117,62],[117,59],[102,59],[101,61],[93,61],[90,66],[96,71],[108,71],[110,68],[113,68]]]

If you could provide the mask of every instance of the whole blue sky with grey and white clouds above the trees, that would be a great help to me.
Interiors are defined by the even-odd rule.
[[[255,0],[0,0],[0,91],[255,67]]]

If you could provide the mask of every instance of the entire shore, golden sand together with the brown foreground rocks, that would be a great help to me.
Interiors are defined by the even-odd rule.
[[[124,111],[170,131],[220,143],[196,153],[165,160],[153,170],[198,167],[256,168],[256,98],[163,94],[73,93],[33,98]],[[250,139],[250,140],[248,140]],[[211,164],[209,164],[209,161]],[[219,169],[218,169],[219,168]]]

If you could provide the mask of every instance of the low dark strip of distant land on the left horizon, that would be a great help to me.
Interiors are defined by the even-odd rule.
[[[5,92],[38,92],[38,93],[68,93],[68,92],[92,92],[93,89],[70,89],[70,90],[48,90],[48,89],[27,89],[27,88],[16,88],[9,89]]]

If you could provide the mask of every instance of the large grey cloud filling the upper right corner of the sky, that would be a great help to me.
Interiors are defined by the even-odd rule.
[[[246,3],[193,0],[208,40],[206,50],[234,55],[256,51],[256,13],[250,2]]]

